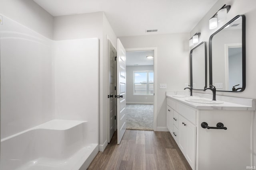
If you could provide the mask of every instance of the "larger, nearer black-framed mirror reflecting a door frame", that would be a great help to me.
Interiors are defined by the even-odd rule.
[[[216,91],[244,91],[245,61],[245,16],[238,15],[210,36],[210,84]]]

